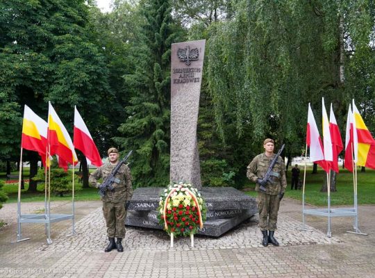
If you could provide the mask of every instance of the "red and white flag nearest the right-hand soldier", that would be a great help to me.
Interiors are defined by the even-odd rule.
[[[324,170],[327,169],[326,161],[324,160],[323,145],[320,139],[319,130],[310,103],[308,104],[308,124],[306,131],[306,144],[310,147],[310,161],[317,163]],[[326,170],[328,172],[328,170]]]

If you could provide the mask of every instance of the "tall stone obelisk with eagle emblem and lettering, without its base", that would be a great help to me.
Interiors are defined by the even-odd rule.
[[[197,145],[199,95],[206,40],[172,44],[170,180],[201,188]]]

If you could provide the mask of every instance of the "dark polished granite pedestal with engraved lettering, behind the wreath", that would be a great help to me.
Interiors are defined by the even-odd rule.
[[[163,229],[159,224],[160,193],[165,188],[137,188],[128,206],[128,226]],[[207,220],[197,234],[221,236],[244,220],[258,213],[256,199],[235,188],[202,188]]]

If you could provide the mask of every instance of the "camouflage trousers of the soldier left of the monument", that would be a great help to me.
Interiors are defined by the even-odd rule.
[[[125,202],[103,202],[103,215],[106,219],[107,236],[109,238],[125,237]]]

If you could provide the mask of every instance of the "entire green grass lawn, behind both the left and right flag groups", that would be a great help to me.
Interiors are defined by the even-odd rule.
[[[311,174],[312,169],[308,167],[306,170],[306,188],[305,197],[306,203],[315,206],[327,205],[327,193],[320,192],[326,173],[318,168],[317,174]],[[17,174],[17,172],[12,172]],[[290,176],[290,172],[288,172]],[[303,179],[303,167],[301,167],[301,179]],[[5,180],[5,173],[0,173],[0,179]],[[28,172],[24,172],[24,179],[28,179]],[[302,200],[302,190],[290,190],[290,177],[288,177],[288,188],[285,192],[286,197]],[[78,182],[78,181],[77,181]],[[17,202],[17,186],[18,183],[7,183],[3,186],[3,190],[8,194],[7,203]],[[44,201],[44,189],[38,186],[38,193],[27,192],[28,183],[25,182],[25,189],[22,190],[22,202],[42,202]],[[253,191],[254,184],[250,181],[245,185],[245,193],[251,196],[256,196],[257,193]],[[347,170],[340,169],[337,175],[336,192],[331,193],[331,205],[353,205],[353,174]],[[51,195],[53,201],[71,200],[72,194],[65,197],[58,197]],[[99,200],[99,194],[95,188],[83,188],[74,193],[74,199],[77,201]],[[366,169],[366,172],[360,172],[358,168],[358,204],[375,204],[375,170]]]

